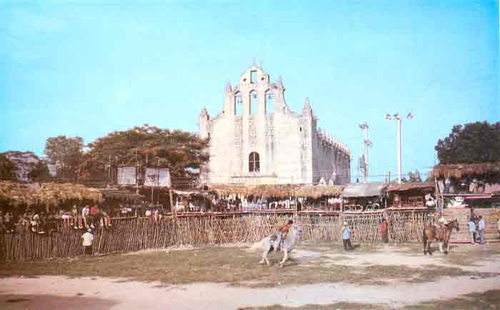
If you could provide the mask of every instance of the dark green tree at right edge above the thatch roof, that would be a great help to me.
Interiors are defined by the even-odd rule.
[[[500,161],[500,122],[453,126],[451,134],[434,148],[440,164],[473,164]]]

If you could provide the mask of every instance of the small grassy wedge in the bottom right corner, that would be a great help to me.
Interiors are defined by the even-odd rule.
[[[403,310],[440,310],[440,309],[500,309],[500,290],[471,293],[461,297],[446,300],[433,300],[424,303],[405,306]]]

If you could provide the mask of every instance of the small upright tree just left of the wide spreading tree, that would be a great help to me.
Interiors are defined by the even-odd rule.
[[[84,139],[56,136],[47,139],[44,154],[56,165],[57,176],[76,179],[83,155]]]

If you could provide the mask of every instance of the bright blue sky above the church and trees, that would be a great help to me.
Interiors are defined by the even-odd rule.
[[[3,1],[0,151],[43,154],[144,123],[197,130],[255,57],[286,101],[364,153],[371,174],[428,171],[455,124],[499,121],[498,1]]]

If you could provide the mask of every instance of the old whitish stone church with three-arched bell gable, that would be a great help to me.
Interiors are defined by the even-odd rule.
[[[341,142],[317,127],[309,99],[301,113],[285,101],[281,76],[271,81],[256,64],[239,84],[224,89],[222,111],[199,115],[199,136],[209,139],[204,184],[346,184],[351,156]]]

